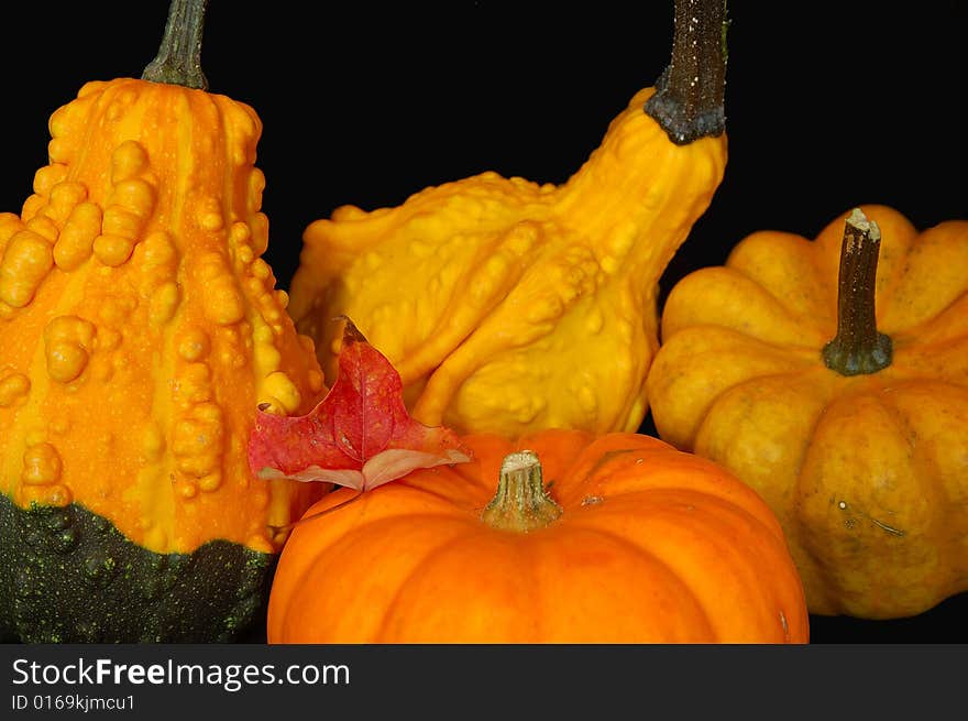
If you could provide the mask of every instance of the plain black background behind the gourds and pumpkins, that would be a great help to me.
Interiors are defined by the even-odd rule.
[[[968,218],[968,1],[739,2],[729,10],[729,163],[661,281],[747,233],[816,234],[865,203],[919,227]],[[91,79],[139,76],[166,0],[6,3],[0,210],[46,163],[46,121]],[[288,287],[306,225],[398,205],[484,170],[565,181],[669,57],[672,2],[211,0],[210,90],[264,123],[270,250]],[[647,420],[647,433],[653,433]],[[814,643],[964,643],[968,594],[915,619],[812,619]]]

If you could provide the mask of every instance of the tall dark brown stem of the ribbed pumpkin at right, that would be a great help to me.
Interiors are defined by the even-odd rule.
[[[824,363],[842,375],[877,373],[891,364],[893,343],[878,332],[875,290],[881,230],[855,208],[844,226],[837,294],[837,336],[824,346]]]

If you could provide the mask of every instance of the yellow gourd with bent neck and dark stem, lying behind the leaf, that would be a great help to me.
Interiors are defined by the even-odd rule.
[[[327,378],[346,315],[427,425],[636,430],[659,277],[726,164],[724,4],[676,2],[671,65],[563,185],[486,172],[309,225],[289,312]]]

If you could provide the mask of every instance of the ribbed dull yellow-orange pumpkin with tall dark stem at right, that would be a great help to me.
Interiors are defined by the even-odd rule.
[[[683,278],[656,427],[779,517],[818,614],[914,615],[968,590],[968,221],[864,206],[762,231]]]

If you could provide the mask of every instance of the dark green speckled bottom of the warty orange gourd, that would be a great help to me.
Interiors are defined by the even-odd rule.
[[[239,641],[264,622],[275,561],[224,540],[156,554],[80,505],[0,494],[0,641]]]

